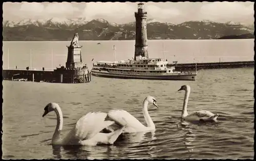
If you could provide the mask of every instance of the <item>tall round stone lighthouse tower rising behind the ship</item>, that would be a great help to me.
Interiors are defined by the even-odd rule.
[[[138,12],[135,12],[136,18],[136,40],[134,60],[140,60],[142,57],[148,58],[147,52],[147,34],[146,34],[146,17],[144,4],[138,4]]]

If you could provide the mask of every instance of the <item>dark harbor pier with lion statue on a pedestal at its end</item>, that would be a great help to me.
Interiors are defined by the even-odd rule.
[[[76,33],[68,47],[68,58],[66,67],[61,66],[54,70],[31,70],[26,69],[3,69],[4,80],[12,81],[32,81],[32,82],[51,82],[51,83],[89,83],[91,71],[87,65],[83,65],[81,48],[78,45],[78,34]],[[8,64],[9,66],[9,64]]]

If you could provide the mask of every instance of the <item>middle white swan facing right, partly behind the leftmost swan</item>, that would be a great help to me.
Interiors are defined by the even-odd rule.
[[[157,108],[156,99],[152,96],[147,96],[143,101],[143,114],[147,126],[144,126],[140,121],[138,121],[134,116],[124,110],[110,110],[108,116],[110,119],[114,120],[115,123],[120,126],[126,125],[123,132],[142,132],[142,131],[152,131],[155,130],[155,124],[152,121],[150,115],[147,111],[148,103],[154,104]],[[112,131],[111,129],[109,129]]]

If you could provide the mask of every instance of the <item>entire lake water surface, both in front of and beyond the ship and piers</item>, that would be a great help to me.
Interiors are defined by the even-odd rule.
[[[154,44],[154,41],[150,43]],[[180,51],[184,51],[180,52],[180,57],[177,56],[180,62],[193,62],[191,55],[185,53],[195,53],[199,59],[203,51],[207,52],[205,52],[204,59],[200,57],[199,62],[213,60],[215,57],[211,56],[214,55],[214,51],[216,51],[216,61],[219,60],[217,56],[227,58],[224,57],[223,52],[228,53],[228,56],[232,58],[231,61],[236,61],[238,56],[241,56],[239,60],[245,57],[247,57],[245,60],[253,60],[254,54],[253,40],[155,42],[160,46],[155,48],[155,51],[159,50],[159,56],[162,54],[159,53],[162,50],[162,42],[165,44],[165,50],[178,51],[177,48],[179,48]],[[80,41],[84,48],[82,57],[88,64],[93,58],[96,61],[113,60],[113,44],[117,48],[117,60],[133,57],[133,49],[129,49],[129,47],[133,48],[133,41],[101,41],[100,48],[96,43],[95,41]],[[179,44],[179,47],[172,43]],[[5,52],[9,47],[9,67],[29,66],[30,60],[27,60],[27,57],[30,58],[29,50],[33,48],[33,51],[41,51],[41,54],[33,52],[33,67],[40,68],[44,65],[51,69],[51,48],[54,47],[57,50],[54,52],[54,66],[60,63],[64,65],[67,59],[65,45],[68,45],[68,42],[4,42],[3,50]],[[86,46],[90,46],[90,49],[87,50]],[[201,53],[197,52],[200,46]],[[43,47],[46,49],[39,50]],[[151,45],[152,48],[154,51],[154,46]],[[128,55],[127,50],[132,53]],[[157,53],[153,51],[150,50],[150,56],[156,57]],[[49,58],[43,57],[43,53],[46,53]],[[166,59],[173,58],[171,53],[167,56],[166,52],[165,56]],[[4,57],[6,58],[6,52]],[[7,66],[5,58],[4,67]],[[197,81],[139,79],[127,81],[126,79],[94,76],[92,82],[87,84],[3,81],[3,158],[252,159],[254,155],[253,71],[253,68],[199,70]],[[184,91],[177,92],[177,90],[185,84],[191,87],[188,112],[208,110],[218,113],[220,115],[218,122],[188,124],[187,126],[179,124]],[[50,145],[56,126],[56,116],[50,113],[45,118],[41,117],[47,103],[59,103],[64,116],[62,133],[65,135],[82,115],[88,112],[108,112],[113,108],[130,112],[145,124],[142,101],[148,95],[154,96],[159,105],[159,109],[154,108],[153,105],[148,107],[150,116],[156,125],[154,133],[124,135],[114,145]]]

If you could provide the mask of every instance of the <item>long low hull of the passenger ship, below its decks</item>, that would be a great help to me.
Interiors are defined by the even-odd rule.
[[[165,74],[165,75],[134,75],[134,74],[121,74],[109,73],[107,71],[91,70],[92,75],[98,77],[121,78],[121,79],[155,79],[155,80],[180,80],[180,81],[196,81],[197,74]]]

